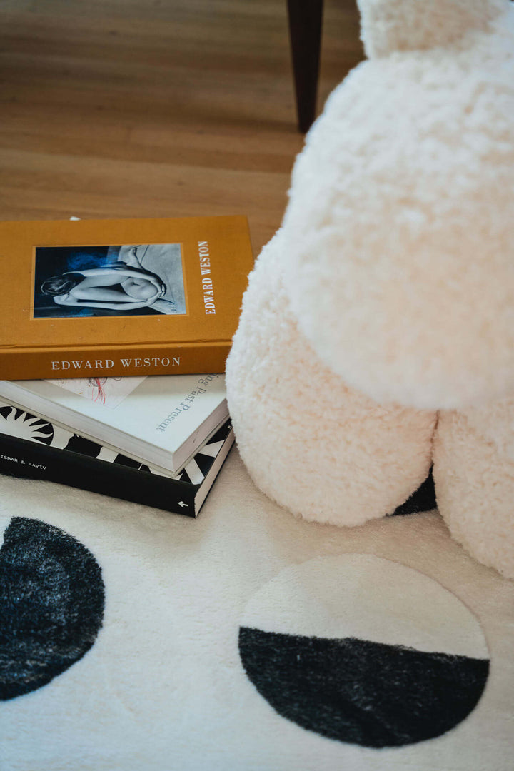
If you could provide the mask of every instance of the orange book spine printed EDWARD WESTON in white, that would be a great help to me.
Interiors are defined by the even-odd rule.
[[[105,345],[0,350],[0,379],[44,380],[119,375],[224,372],[230,342]]]

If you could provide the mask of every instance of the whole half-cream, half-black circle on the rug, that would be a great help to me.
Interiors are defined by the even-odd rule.
[[[453,729],[489,674],[482,628],[454,594],[367,554],[282,571],[250,600],[239,648],[248,678],[282,717],[371,748]]]

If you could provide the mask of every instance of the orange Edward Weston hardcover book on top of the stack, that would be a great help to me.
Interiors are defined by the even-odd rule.
[[[246,217],[0,223],[0,379],[224,372]]]

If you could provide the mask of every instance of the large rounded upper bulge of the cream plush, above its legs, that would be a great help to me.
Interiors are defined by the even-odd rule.
[[[372,5],[406,21],[432,8]],[[281,255],[294,314],[377,401],[452,409],[514,390],[514,8],[482,5],[505,12],[459,46],[362,62],[294,168]]]

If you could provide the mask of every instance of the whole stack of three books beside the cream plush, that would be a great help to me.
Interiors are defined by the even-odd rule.
[[[0,473],[196,517],[252,267],[244,217],[0,223]]]

